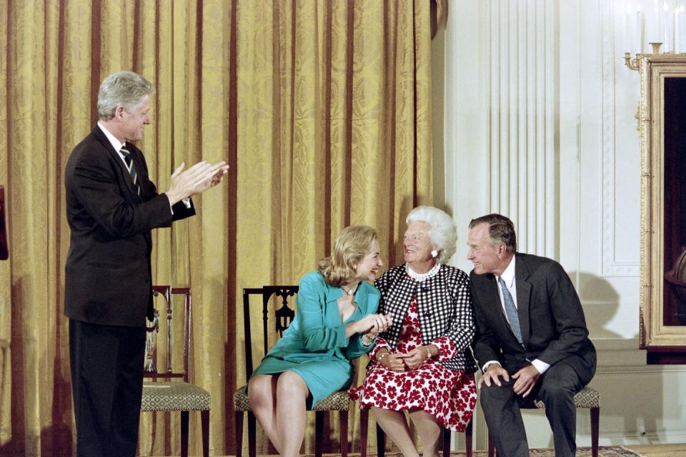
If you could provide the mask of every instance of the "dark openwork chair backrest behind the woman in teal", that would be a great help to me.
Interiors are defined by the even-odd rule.
[[[250,331],[250,298],[262,297],[262,332],[264,344],[262,355],[269,349],[269,300],[274,297],[274,325],[272,330],[279,337],[284,334],[295,317],[294,296],[298,293],[298,286],[262,286],[261,288],[243,289],[243,326],[245,336],[245,373],[247,378],[252,376],[252,332]],[[291,303],[291,306],[289,306]]]

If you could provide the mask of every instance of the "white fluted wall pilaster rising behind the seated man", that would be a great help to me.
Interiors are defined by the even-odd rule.
[[[487,9],[489,209],[515,222],[522,252],[557,258],[559,0]]]

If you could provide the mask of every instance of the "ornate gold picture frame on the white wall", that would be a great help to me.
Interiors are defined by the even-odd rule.
[[[640,278],[640,346],[650,353],[686,353],[686,319],[681,306],[673,295],[674,283],[667,283],[665,273],[672,268],[666,265],[665,258],[671,262],[675,248],[683,246],[682,241],[675,243],[680,236],[677,231],[665,236],[665,229],[672,230],[675,224],[682,224],[682,217],[675,216],[672,208],[674,197],[665,196],[665,180],[670,192],[675,185],[674,171],[670,171],[679,153],[675,149],[680,139],[675,124],[683,124],[686,135],[686,103],[682,114],[675,111],[676,102],[672,101],[674,90],[684,90],[686,94],[686,54],[642,54],[639,58],[641,99],[640,99],[640,148],[641,148],[641,278]],[[673,89],[673,88],[677,89]],[[667,93],[665,92],[667,90]],[[667,112],[666,112],[667,111]],[[677,114],[675,114],[677,113]],[[665,146],[667,144],[667,146]],[[679,146],[680,147],[680,146]],[[665,154],[665,151],[667,154]],[[670,166],[665,167],[665,160]],[[667,169],[667,175],[665,174]],[[684,181],[686,176],[677,181]],[[679,184],[679,183],[677,183]],[[677,191],[680,194],[681,191]],[[665,210],[665,201],[670,206]],[[667,217],[667,221],[665,221]],[[680,227],[686,229],[686,227]],[[667,238],[667,240],[665,240]],[[669,245],[665,251],[665,243]],[[678,244],[679,246],[676,246]],[[666,298],[665,298],[666,297]],[[677,303],[675,305],[675,303]],[[679,309],[682,309],[681,307]],[[672,357],[673,356],[667,356]],[[672,363],[660,361],[654,363]]]

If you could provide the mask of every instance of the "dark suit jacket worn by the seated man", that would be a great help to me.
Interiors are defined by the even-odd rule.
[[[588,338],[579,296],[560,263],[515,253],[517,314],[524,347],[507,323],[492,274],[469,274],[477,322],[474,356],[479,366],[491,360],[515,371],[538,358],[551,366],[570,363],[582,381],[595,373],[595,347]]]

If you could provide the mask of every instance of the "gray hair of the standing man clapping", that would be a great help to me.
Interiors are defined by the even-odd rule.
[[[114,117],[117,106],[133,111],[144,96],[154,94],[155,86],[133,71],[118,71],[107,76],[98,91],[98,116],[103,121]]]

